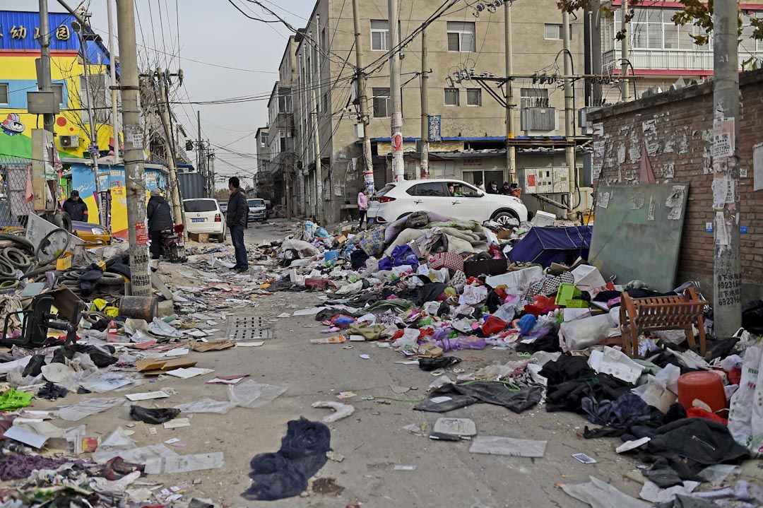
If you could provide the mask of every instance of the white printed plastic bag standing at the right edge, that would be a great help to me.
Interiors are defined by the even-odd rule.
[[[750,346],[742,362],[739,389],[732,395],[729,432],[753,454],[763,454],[763,342]]]

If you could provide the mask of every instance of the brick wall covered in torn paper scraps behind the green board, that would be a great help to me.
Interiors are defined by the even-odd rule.
[[[753,151],[763,143],[763,70],[740,75],[739,227],[742,304],[763,297],[763,190],[755,191]],[[713,292],[713,83],[694,85],[605,108],[591,115],[594,132],[594,198],[607,185],[639,184],[642,156],[658,183],[688,183],[678,282],[700,281]],[[757,169],[763,187],[763,167]],[[594,222],[595,223],[595,222]],[[710,227],[708,227],[710,226]],[[595,227],[595,226],[594,226]],[[660,262],[654,259],[653,262]]]

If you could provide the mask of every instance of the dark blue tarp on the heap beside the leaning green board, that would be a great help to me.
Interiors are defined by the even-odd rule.
[[[588,259],[593,226],[533,227],[509,252],[510,262],[532,262],[548,268],[580,256]]]

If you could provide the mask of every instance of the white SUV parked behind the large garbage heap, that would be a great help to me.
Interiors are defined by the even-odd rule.
[[[460,185],[461,195],[450,194],[448,185]],[[450,178],[407,180],[388,183],[369,202],[369,223],[389,223],[414,211],[432,211],[465,220],[528,220],[527,208],[519,198],[486,194],[474,185]]]

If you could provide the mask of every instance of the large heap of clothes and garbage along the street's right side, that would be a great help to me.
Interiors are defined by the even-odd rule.
[[[699,288],[662,294],[606,281],[584,262],[590,239],[588,226],[506,228],[417,212],[354,234],[306,222],[259,252],[281,267],[269,291],[327,294],[295,313],[327,326],[312,342],[378,341],[439,375],[414,410],[580,413],[586,439],[621,439],[618,452],[649,465],[644,500],[759,506],[763,486],[750,478],[760,480],[760,462],[746,468],[752,477],[737,474],[763,453],[763,301],[745,307],[737,336],[713,338]],[[466,372],[452,355],[485,348],[507,360]],[[528,443],[478,436],[472,451],[542,456]],[[592,506],[651,506],[594,477],[563,487]]]

